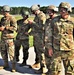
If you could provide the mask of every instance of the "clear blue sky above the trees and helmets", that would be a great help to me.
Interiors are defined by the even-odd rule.
[[[26,6],[30,7],[33,4],[40,4],[41,6],[55,5],[58,6],[60,2],[69,2],[74,7],[74,0],[0,0],[0,6],[9,5],[15,6]]]

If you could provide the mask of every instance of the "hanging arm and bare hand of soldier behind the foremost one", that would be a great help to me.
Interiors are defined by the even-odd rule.
[[[45,29],[45,47],[48,50],[49,56],[53,54],[53,28],[51,23],[48,28]]]

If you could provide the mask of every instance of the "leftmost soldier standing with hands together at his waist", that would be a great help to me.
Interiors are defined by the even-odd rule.
[[[2,14],[4,17],[1,18],[1,55],[4,60],[3,68],[9,67],[8,54],[12,63],[12,72],[15,72],[15,47],[14,47],[14,31],[17,30],[17,22],[15,18],[10,15],[11,8],[8,5],[4,5],[2,8]],[[1,68],[1,67],[0,67]]]

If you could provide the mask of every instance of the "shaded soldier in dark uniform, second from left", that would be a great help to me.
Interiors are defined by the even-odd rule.
[[[25,66],[26,60],[28,59],[28,49],[29,49],[28,31],[30,29],[30,26],[28,24],[28,21],[29,21],[30,13],[26,10],[22,10],[21,13],[22,13],[23,19],[20,19],[17,21],[18,31],[16,36],[16,42],[15,42],[15,55],[16,55],[16,61],[19,61],[19,50],[22,45],[23,62],[20,64],[20,66]]]

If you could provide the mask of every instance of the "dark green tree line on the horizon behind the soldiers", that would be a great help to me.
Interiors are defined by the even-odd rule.
[[[0,6],[0,14],[1,14],[1,9],[2,9],[2,6]],[[29,7],[12,7],[12,11],[10,13],[13,15],[21,14],[22,9],[28,10],[29,12],[31,12]],[[46,13],[47,6],[41,7],[40,10],[43,11],[44,13]],[[74,14],[74,7],[72,7],[72,14]]]

